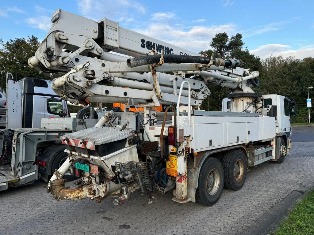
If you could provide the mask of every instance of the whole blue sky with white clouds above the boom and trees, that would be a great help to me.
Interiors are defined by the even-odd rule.
[[[314,57],[314,1],[7,1],[0,5],[0,38],[44,39],[51,14],[63,10],[119,25],[183,48],[207,50],[216,33],[241,33],[245,46],[262,59]]]

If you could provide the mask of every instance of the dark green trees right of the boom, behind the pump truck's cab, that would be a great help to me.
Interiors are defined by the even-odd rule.
[[[242,35],[229,37],[226,33],[219,33],[210,43],[211,50],[201,51],[211,56],[226,59],[238,59],[244,62],[243,68],[251,71],[259,71],[259,86],[253,88],[256,92],[263,94],[281,94],[293,98],[297,104],[296,116],[292,118],[294,123],[303,123],[308,120],[308,109],[306,108],[307,87],[314,86],[314,58],[307,57],[302,60],[293,56],[283,58],[282,56],[269,56],[265,60],[250,54],[244,47]],[[203,102],[203,109],[221,110],[221,99],[226,97],[229,88],[214,84],[209,85],[211,96]],[[314,98],[314,90],[310,90],[310,98]],[[314,118],[311,112],[311,119]],[[314,119],[312,119],[314,120]]]

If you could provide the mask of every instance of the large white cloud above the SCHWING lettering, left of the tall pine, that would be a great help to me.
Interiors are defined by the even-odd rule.
[[[229,35],[234,34],[235,25],[226,24],[183,28],[156,23],[149,24],[147,29],[135,29],[135,31],[198,53],[201,50],[210,48],[209,43],[217,33],[226,32]]]

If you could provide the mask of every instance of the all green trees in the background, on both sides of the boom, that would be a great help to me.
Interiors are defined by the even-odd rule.
[[[14,79],[24,77],[37,77],[52,79],[57,74],[46,74],[28,66],[28,59],[35,55],[40,42],[35,36],[16,38],[9,41],[0,39],[0,78],[5,86],[5,74],[10,72]],[[297,103],[296,117],[293,122],[302,123],[307,120],[308,110],[306,108],[307,87],[314,86],[314,58],[307,57],[302,60],[292,56],[269,56],[265,60],[250,54],[244,46],[241,34],[228,36],[226,33],[216,34],[210,46],[212,49],[201,51],[207,54],[225,59],[239,59],[244,62],[242,67],[251,71],[259,71],[259,87],[254,88],[256,92],[263,94],[282,94],[293,98]],[[229,88],[210,84],[211,95],[203,102],[202,109],[221,110],[222,98],[230,93]],[[314,98],[314,90],[310,90],[310,98]],[[314,120],[314,115],[311,113]]]

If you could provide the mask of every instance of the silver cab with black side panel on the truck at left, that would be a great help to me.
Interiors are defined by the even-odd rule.
[[[26,77],[8,80],[8,121],[3,128],[39,128],[41,118],[69,117],[67,102],[52,90],[51,81]]]

